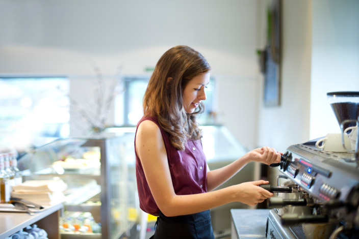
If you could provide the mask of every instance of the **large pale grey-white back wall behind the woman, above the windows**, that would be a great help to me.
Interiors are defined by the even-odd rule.
[[[190,45],[213,67],[220,123],[255,145],[257,1],[3,0],[0,20],[0,74],[84,80],[93,64],[108,75],[118,66],[124,75],[148,74],[167,49]],[[80,89],[91,96],[90,85]]]

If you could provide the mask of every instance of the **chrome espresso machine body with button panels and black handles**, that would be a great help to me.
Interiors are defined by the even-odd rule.
[[[320,225],[323,236],[330,230],[332,238],[359,238],[358,161],[353,153],[323,152],[313,143],[290,146],[280,162],[279,170],[292,184],[270,191],[299,197],[269,199],[275,209],[268,217],[267,238],[306,238],[307,225],[313,231]]]

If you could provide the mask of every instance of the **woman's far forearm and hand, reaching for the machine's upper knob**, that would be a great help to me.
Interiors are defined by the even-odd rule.
[[[271,147],[256,148],[222,168],[211,170],[207,173],[207,191],[210,192],[225,183],[251,161],[268,165],[279,163],[280,155],[283,154]]]

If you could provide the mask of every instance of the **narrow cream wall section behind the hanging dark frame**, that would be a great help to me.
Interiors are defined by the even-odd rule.
[[[312,1],[283,1],[282,7],[281,103],[265,107],[259,101],[258,144],[285,152],[309,139]],[[261,27],[265,29],[263,23]]]

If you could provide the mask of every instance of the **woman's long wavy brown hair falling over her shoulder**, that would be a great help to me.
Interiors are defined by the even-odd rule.
[[[193,77],[211,70],[206,59],[188,46],[175,46],[159,59],[143,98],[144,115],[156,117],[169,134],[177,150],[185,150],[188,139],[200,139],[196,115],[204,110],[203,103],[188,114],[183,107],[183,91]]]

